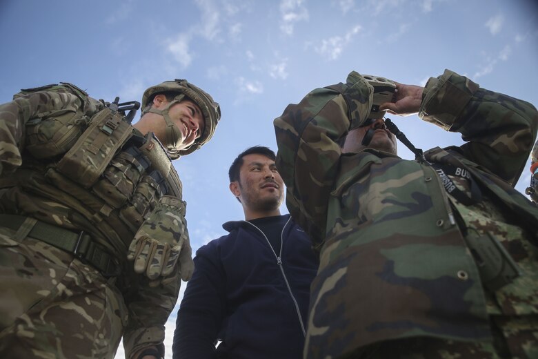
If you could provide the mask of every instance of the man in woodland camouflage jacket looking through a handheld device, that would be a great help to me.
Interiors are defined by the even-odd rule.
[[[396,89],[381,110],[466,143],[397,157],[383,119],[363,126],[357,72],[275,119],[288,209],[320,251],[304,358],[538,358],[538,208],[513,188],[537,110],[450,70]]]

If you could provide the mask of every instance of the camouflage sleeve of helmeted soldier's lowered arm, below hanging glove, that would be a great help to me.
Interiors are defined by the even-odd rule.
[[[164,357],[164,329],[168,316],[177,302],[181,275],[176,267],[167,278],[150,281],[143,275],[137,278],[136,293],[125,298],[128,307],[128,322],[123,333],[123,347],[126,358],[134,358],[135,353],[147,347],[157,347]]]

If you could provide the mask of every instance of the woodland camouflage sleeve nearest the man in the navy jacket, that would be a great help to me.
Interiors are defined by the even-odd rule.
[[[372,91],[354,71],[346,84],[317,88],[275,119],[277,168],[287,186],[286,204],[316,244],[325,235],[327,200],[341,155],[339,139],[366,120]]]

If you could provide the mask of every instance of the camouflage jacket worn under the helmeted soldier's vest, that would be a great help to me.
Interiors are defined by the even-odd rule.
[[[164,324],[177,301],[181,278],[175,271],[156,283],[135,274],[126,256],[136,226],[126,225],[125,216],[99,199],[97,188],[83,191],[65,179],[61,185],[54,182],[61,177],[52,171],[55,164],[103,108],[103,101],[70,84],[23,90],[0,105],[0,213],[86,231],[117,258],[123,267],[117,286],[128,307],[123,344],[130,357],[149,345],[163,349]]]

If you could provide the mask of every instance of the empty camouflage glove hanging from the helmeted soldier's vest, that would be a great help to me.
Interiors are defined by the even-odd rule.
[[[190,279],[195,264],[185,211],[186,203],[179,198],[161,197],[129,246],[127,259],[135,262],[135,273],[144,273],[150,280],[166,277],[179,259],[181,279]]]

